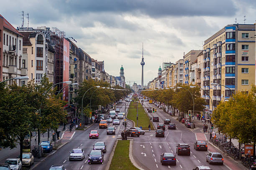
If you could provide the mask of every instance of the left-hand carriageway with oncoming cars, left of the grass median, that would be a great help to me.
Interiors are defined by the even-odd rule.
[[[120,111],[124,111],[125,102],[117,105],[117,108],[120,108]],[[128,102],[126,102],[128,104]],[[109,117],[105,115],[105,118]],[[44,162],[38,165],[34,170],[49,170],[51,165],[64,165],[67,170],[104,170],[105,166],[109,161],[109,156],[113,145],[115,143],[116,138],[121,138],[121,129],[124,130],[124,126],[122,122],[124,120],[120,120],[120,125],[115,125],[116,133],[115,135],[107,135],[107,129],[99,129],[99,124],[95,123],[90,128],[84,131],[77,130],[74,134],[72,140],[60,148],[56,153],[49,156]],[[128,123],[128,127],[132,125]],[[108,127],[112,126],[112,123],[108,123]],[[89,133],[91,130],[99,130],[100,138],[99,139],[89,139]],[[107,152],[104,153],[104,163],[103,164],[88,164],[88,154],[90,154],[91,150],[96,141],[105,141],[107,145]],[[69,152],[72,151],[73,148],[82,148],[85,152],[84,160],[77,161],[69,161]]]

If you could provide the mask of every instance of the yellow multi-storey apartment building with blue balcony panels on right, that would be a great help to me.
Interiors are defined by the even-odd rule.
[[[255,25],[227,25],[205,40],[203,85],[208,108],[228,100],[233,91],[248,92],[255,82]],[[210,83],[218,83],[213,85]],[[223,86],[224,85],[224,86]]]

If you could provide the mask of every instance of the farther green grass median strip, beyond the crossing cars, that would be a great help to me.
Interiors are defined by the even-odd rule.
[[[137,123],[137,102],[131,102],[127,114],[127,118]],[[145,113],[141,103],[138,103],[138,127],[142,127],[143,130],[148,130],[148,124],[150,122],[151,130],[155,130],[151,121],[149,121],[148,114]],[[136,125],[135,125],[136,126]]]

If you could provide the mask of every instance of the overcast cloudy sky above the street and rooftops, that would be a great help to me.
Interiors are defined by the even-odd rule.
[[[20,11],[29,27],[57,27],[74,37],[105,70],[141,84],[142,42],[144,85],[157,76],[162,62],[176,62],[183,52],[201,50],[202,41],[227,24],[253,24],[256,0],[0,0],[0,13],[14,27]],[[27,19],[24,20],[27,26]],[[129,82],[126,82],[129,84]]]

